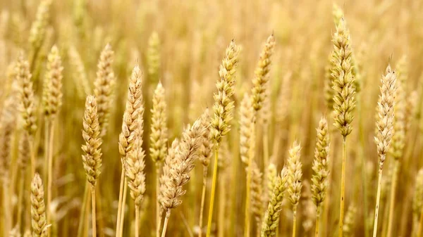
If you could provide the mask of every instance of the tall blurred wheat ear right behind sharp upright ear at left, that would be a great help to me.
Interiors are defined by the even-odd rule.
[[[97,100],[99,124],[101,136],[104,136],[109,124],[111,99],[115,82],[115,75],[112,68],[114,51],[110,44],[107,44],[100,54],[97,64],[97,77],[94,80],[94,96]]]

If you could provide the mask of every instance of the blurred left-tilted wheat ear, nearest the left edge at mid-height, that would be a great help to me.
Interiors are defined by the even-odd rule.
[[[20,53],[16,63],[16,81],[19,83],[19,101],[23,127],[32,137],[37,130],[35,96],[32,89],[30,64],[25,60],[23,53]]]

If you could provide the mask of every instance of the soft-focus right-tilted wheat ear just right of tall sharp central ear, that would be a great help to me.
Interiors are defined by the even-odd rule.
[[[269,83],[269,72],[271,65],[271,56],[274,51],[275,37],[271,34],[266,43],[263,46],[262,53],[260,53],[259,63],[255,69],[255,77],[252,80],[252,107],[257,111],[263,106],[263,102],[266,99],[266,87]]]

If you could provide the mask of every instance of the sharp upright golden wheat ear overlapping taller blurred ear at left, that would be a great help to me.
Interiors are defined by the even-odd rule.
[[[97,101],[94,96],[87,96],[82,125],[82,137],[85,141],[85,145],[82,145],[84,151],[82,162],[88,182],[95,186],[102,168],[102,149],[100,148],[102,139],[100,137]]]

